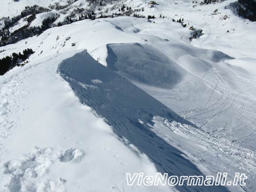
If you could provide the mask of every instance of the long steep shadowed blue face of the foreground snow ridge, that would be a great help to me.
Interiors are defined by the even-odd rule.
[[[158,171],[169,175],[203,175],[184,153],[152,131],[154,116],[188,124],[161,102],[95,61],[86,51],[62,61],[58,71],[80,101],[92,107],[113,127],[117,136],[128,139],[154,162]],[[178,186],[182,192],[225,192],[225,187]]]

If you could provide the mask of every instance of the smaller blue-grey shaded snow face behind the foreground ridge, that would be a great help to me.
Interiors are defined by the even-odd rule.
[[[133,81],[171,88],[181,82],[184,69],[151,46],[138,43],[107,45],[108,67]],[[136,57],[134,57],[136,53]]]

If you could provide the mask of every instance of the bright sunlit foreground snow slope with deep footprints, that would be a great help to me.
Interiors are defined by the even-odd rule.
[[[1,85],[0,191],[129,191],[124,173],[156,173],[56,74],[58,63],[73,54],[36,60],[1,79],[8,87]]]

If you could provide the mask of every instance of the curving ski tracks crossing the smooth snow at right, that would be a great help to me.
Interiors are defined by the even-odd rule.
[[[177,60],[175,60],[172,56],[170,56],[169,53],[167,53],[166,51],[163,51],[162,49],[160,49],[160,48],[157,47],[156,45],[152,44],[151,42],[149,42],[149,44],[152,45],[152,46],[154,46],[154,47],[157,48],[158,50],[160,50],[160,51],[161,51],[163,54],[165,54],[166,56],[168,56],[168,57],[170,58],[170,60],[173,60],[173,61],[175,61],[176,63],[178,63]],[[195,59],[196,59],[196,58],[195,58]],[[198,59],[196,59],[196,60],[198,60]],[[205,60],[205,59],[203,58],[203,60]],[[199,61],[199,60],[198,60],[198,61]],[[202,63],[201,61],[199,61],[199,62]],[[203,63],[202,63],[202,64],[203,64]],[[181,65],[181,64],[180,64],[180,65]],[[203,65],[205,65],[205,64],[203,64]],[[181,67],[183,67],[183,66],[181,65]],[[228,67],[226,67],[226,66],[224,66],[224,67],[225,67],[225,68],[228,68]],[[185,68],[185,69],[186,69],[188,72],[191,72],[191,71],[189,71],[187,68]],[[237,72],[235,72],[234,70],[232,70],[232,69],[230,69],[230,68],[228,68],[228,69],[229,69],[231,72],[233,72],[235,75],[237,75],[237,76],[235,76],[236,78],[238,78],[239,80],[245,82],[245,85],[249,87],[248,89],[254,89],[254,90],[256,89],[255,83],[252,83],[251,80],[245,79],[245,78],[241,77],[241,75],[238,75]],[[221,88],[221,89],[223,90],[223,93],[224,93],[223,95],[225,95],[225,90],[227,90],[227,91],[228,91],[228,95],[226,96],[226,99],[216,108],[216,109],[220,108],[220,110],[219,110],[217,113],[215,113],[214,115],[211,115],[210,117],[203,117],[203,119],[207,119],[207,120],[205,120],[205,121],[203,121],[203,122],[197,122],[196,124],[197,124],[200,128],[203,128],[204,130],[207,130],[207,129],[205,129],[205,127],[206,127],[208,124],[210,124],[210,123],[212,122],[212,120],[215,120],[215,119],[217,119],[218,117],[223,116],[224,113],[229,112],[231,109],[233,109],[233,106],[234,106],[234,105],[237,105],[238,107],[241,107],[241,108],[243,109],[241,116],[238,117],[237,119],[235,119],[235,120],[234,120],[234,123],[230,122],[229,125],[225,125],[225,126],[223,126],[223,127],[221,127],[221,128],[218,128],[218,131],[219,131],[219,130],[226,130],[226,129],[228,129],[228,128],[231,128],[235,123],[237,123],[239,120],[241,120],[241,117],[242,117],[242,116],[244,115],[244,113],[245,113],[244,108],[245,108],[246,100],[248,99],[248,93],[247,93],[247,94],[243,94],[242,92],[244,92],[244,91],[242,91],[242,92],[240,91],[241,93],[237,93],[236,90],[232,90],[231,87],[230,87],[230,85],[229,85],[230,79],[227,79],[227,77],[229,77],[229,75],[223,76],[223,75],[222,75],[222,72],[218,71],[218,70],[215,69],[215,68],[214,68],[214,70],[215,70],[216,76],[218,76],[218,79],[221,79],[219,82],[220,82],[220,85],[222,85],[222,87],[221,87],[221,86],[218,86],[218,85],[217,85],[217,87],[218,87],[218,88]],[[191,72],[191,73],[192,73],[192,75],[195,75],[195,76],[199,77],[198,75],[194,74],[193,72]],[[205,74],[205,75],[207,75],[207,74]],[[199,78],[201,79],[201,77],[199,77]],[[203,79],[204,83],[207,85],[207,87],[210,87],[210,85],[213,85],[212,82],[206,80],[204,77],[203,77],[202,79]],[[223,81],[224,83],[222,83],[222,81]],[[208,85],[207,83],[210,83],[210,85]],[[220,94],[221,92],[220,92],[220,91],[217,91],[217,87],[215,87],[215,89],[212,89],[211,87],[210,87],[210,88],[213,90],[213,93],[214,93],[214,92],[217,92],[218,94]],[[213,93],[212,93],[212,94],[213,94]],[[211,100],[212,94],[211,94],[209,100]],[[232,94],[232,95],[231,95],[231,94]],[[242,96],[243,98],[241,98],[240,96]],[[244,105],[236,104],[236,100],[237,100],[237,99],[240,100],[240,101],[242,101],[242,102],[244,103]],[[253,101],[256,101],[253,96],[250,97],[250,99],[253,99]],[[218,100],[218,101],[219,101],[219,100]],[[230,104],[229,104],[229,102],[230,102]],[[209,105],[209,103],[207,103],[206,105],[204,105],[204,106],[202,106],[202,107],[200,107],[200,108],[192,109],[192,110],[188,111],[187,113],[182,114],[182,116],[183,116],[183,117],[187,117],[188,114],[192,114],[192,113],[195,113],[195,112],[196,112],[196,113],[197,113],[196,115],[194,114],[193,116],[187,117],[188,120],[191,120],[192,122],[194,122],[193,119],[195,119],[196,117],[198,117],[198,116],[201,117],[203,114],[206,114],[206,113],[209,113],[209,112],[211,112],[211,111],[215,111],[215,110],[216,110],[216,109],[212,108],[212,106],[210,106],[210,107],[207,108],[207,105]],[[215,104],[213,104],[213,105],[215,105]],[[207,108],[207,109],[205,110],[205,108]],[[203,110],[203,113],[200,113],[200,111],[202,111],[202,109],[204,109],[204,110]],[[198,113],[198,112],[199,112],[199,113]],[[255,115],[255,117],[256,117],[256,113],[254,113],[254,115]],[[201,118],[202,118],[202,117],[201,117]],[[231,136],[231,135],[234,135],[234,134],[236,134],[236,133],[239,133],[239,132],[241,132],[241,131],[243,131],[243,130],[245,130],[245,129],[247,129],[247,128],[251,128],[252,125],[254,125],[255,123],[256,123],[256,118],[252,119],[252,122],[251,122],[250,124],[248,124],[247,126],[245,126],[244,128],[241,128],[241,129],[239,129],[239,130],[237,130],[237,131],[235,131],[235,132],[232,132],[232,133],[224,134],[224,136],[225,136],[225,137],[226,137],[226,136]],[[254,136],[255,134],[256,134],[256,132],[253,132],[252,134],[246,136],[245,138],[237,139],[237,141],[240,141],[240,142],[241,142],[241,141],[246,141],[246,139],[249,139],[250,137]]]

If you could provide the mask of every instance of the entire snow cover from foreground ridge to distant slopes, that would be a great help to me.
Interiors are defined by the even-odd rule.
[[[256,25],[231,2],[124,1],[157,19],[85,19],[1,47],[35,53],[0,76],[0,191],[255,191]],[[191,41],[192,25],[203,35]],[[248,179],[128,186],[139,172]]]

